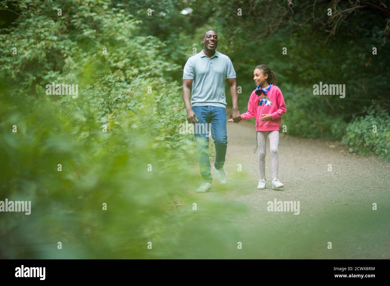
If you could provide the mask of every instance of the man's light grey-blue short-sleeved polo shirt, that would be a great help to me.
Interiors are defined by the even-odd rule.
[[[236,78],[232,61],[217,51],[209,58],[203,51],[188,58],[184,66],[183,79],[193,80],[191,106],[226,108],[225,78]]]

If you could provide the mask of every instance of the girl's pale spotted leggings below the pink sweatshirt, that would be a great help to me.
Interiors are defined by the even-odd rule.
[[[279,158],[278,144],[279,131],[257,131],[257,148],[259,148],[259,170],[261,179],[266,178],[266,143],[269,137],[269,150],[271,151],[272,179],[278,177]]]

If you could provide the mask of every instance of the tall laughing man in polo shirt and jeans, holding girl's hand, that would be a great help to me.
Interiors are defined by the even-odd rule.
[[[225,78],[229,83],[232,96],[232,113],[234,123],[241,121],[238,111],[238,93],[236,72],[229,57],[216,51],[218,35],[209,30],[203,35],[204,49],[191,56],[183,72],[183,101],[186,106],[188,123],[209,126],[215,142],[214,171],[220,184],[226,184],[223,165],[227,147],[226,131],[226,97]],[[192,86],[192,97],[190,88]],[[190,100],[191,98],[191,100]],[[209,158],[209,135],[207,132],[197,132],[207,128],[195,128],[195,142],[198,150],[198,161],[202,184],[197,192],[204,193],[211,189],[213,177]]]

